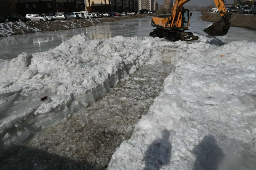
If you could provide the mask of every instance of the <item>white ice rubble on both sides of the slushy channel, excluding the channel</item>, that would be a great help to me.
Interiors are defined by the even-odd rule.
[[[77,35],[49,52],[1,60],[0,149],[65,121],[140,66],[165,60],[175,69],[109,169],[256,169],[256,43],[198,36],[173,43]]]

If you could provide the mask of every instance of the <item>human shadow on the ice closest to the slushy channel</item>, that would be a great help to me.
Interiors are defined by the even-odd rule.
[[[163,133],[165,133],[163,137],[154,140],[145,151],[144,161],[146,165],[144,170],[160,169],[162,166],[169,164],[172,150],[169,143],[170,132],[163,131]]]

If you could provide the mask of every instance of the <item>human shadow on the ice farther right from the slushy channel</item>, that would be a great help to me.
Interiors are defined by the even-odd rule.
[[[218,164],[224,158],[213,135],[205,136],[192,153],[197,156],[193,169],[218,169]]]

